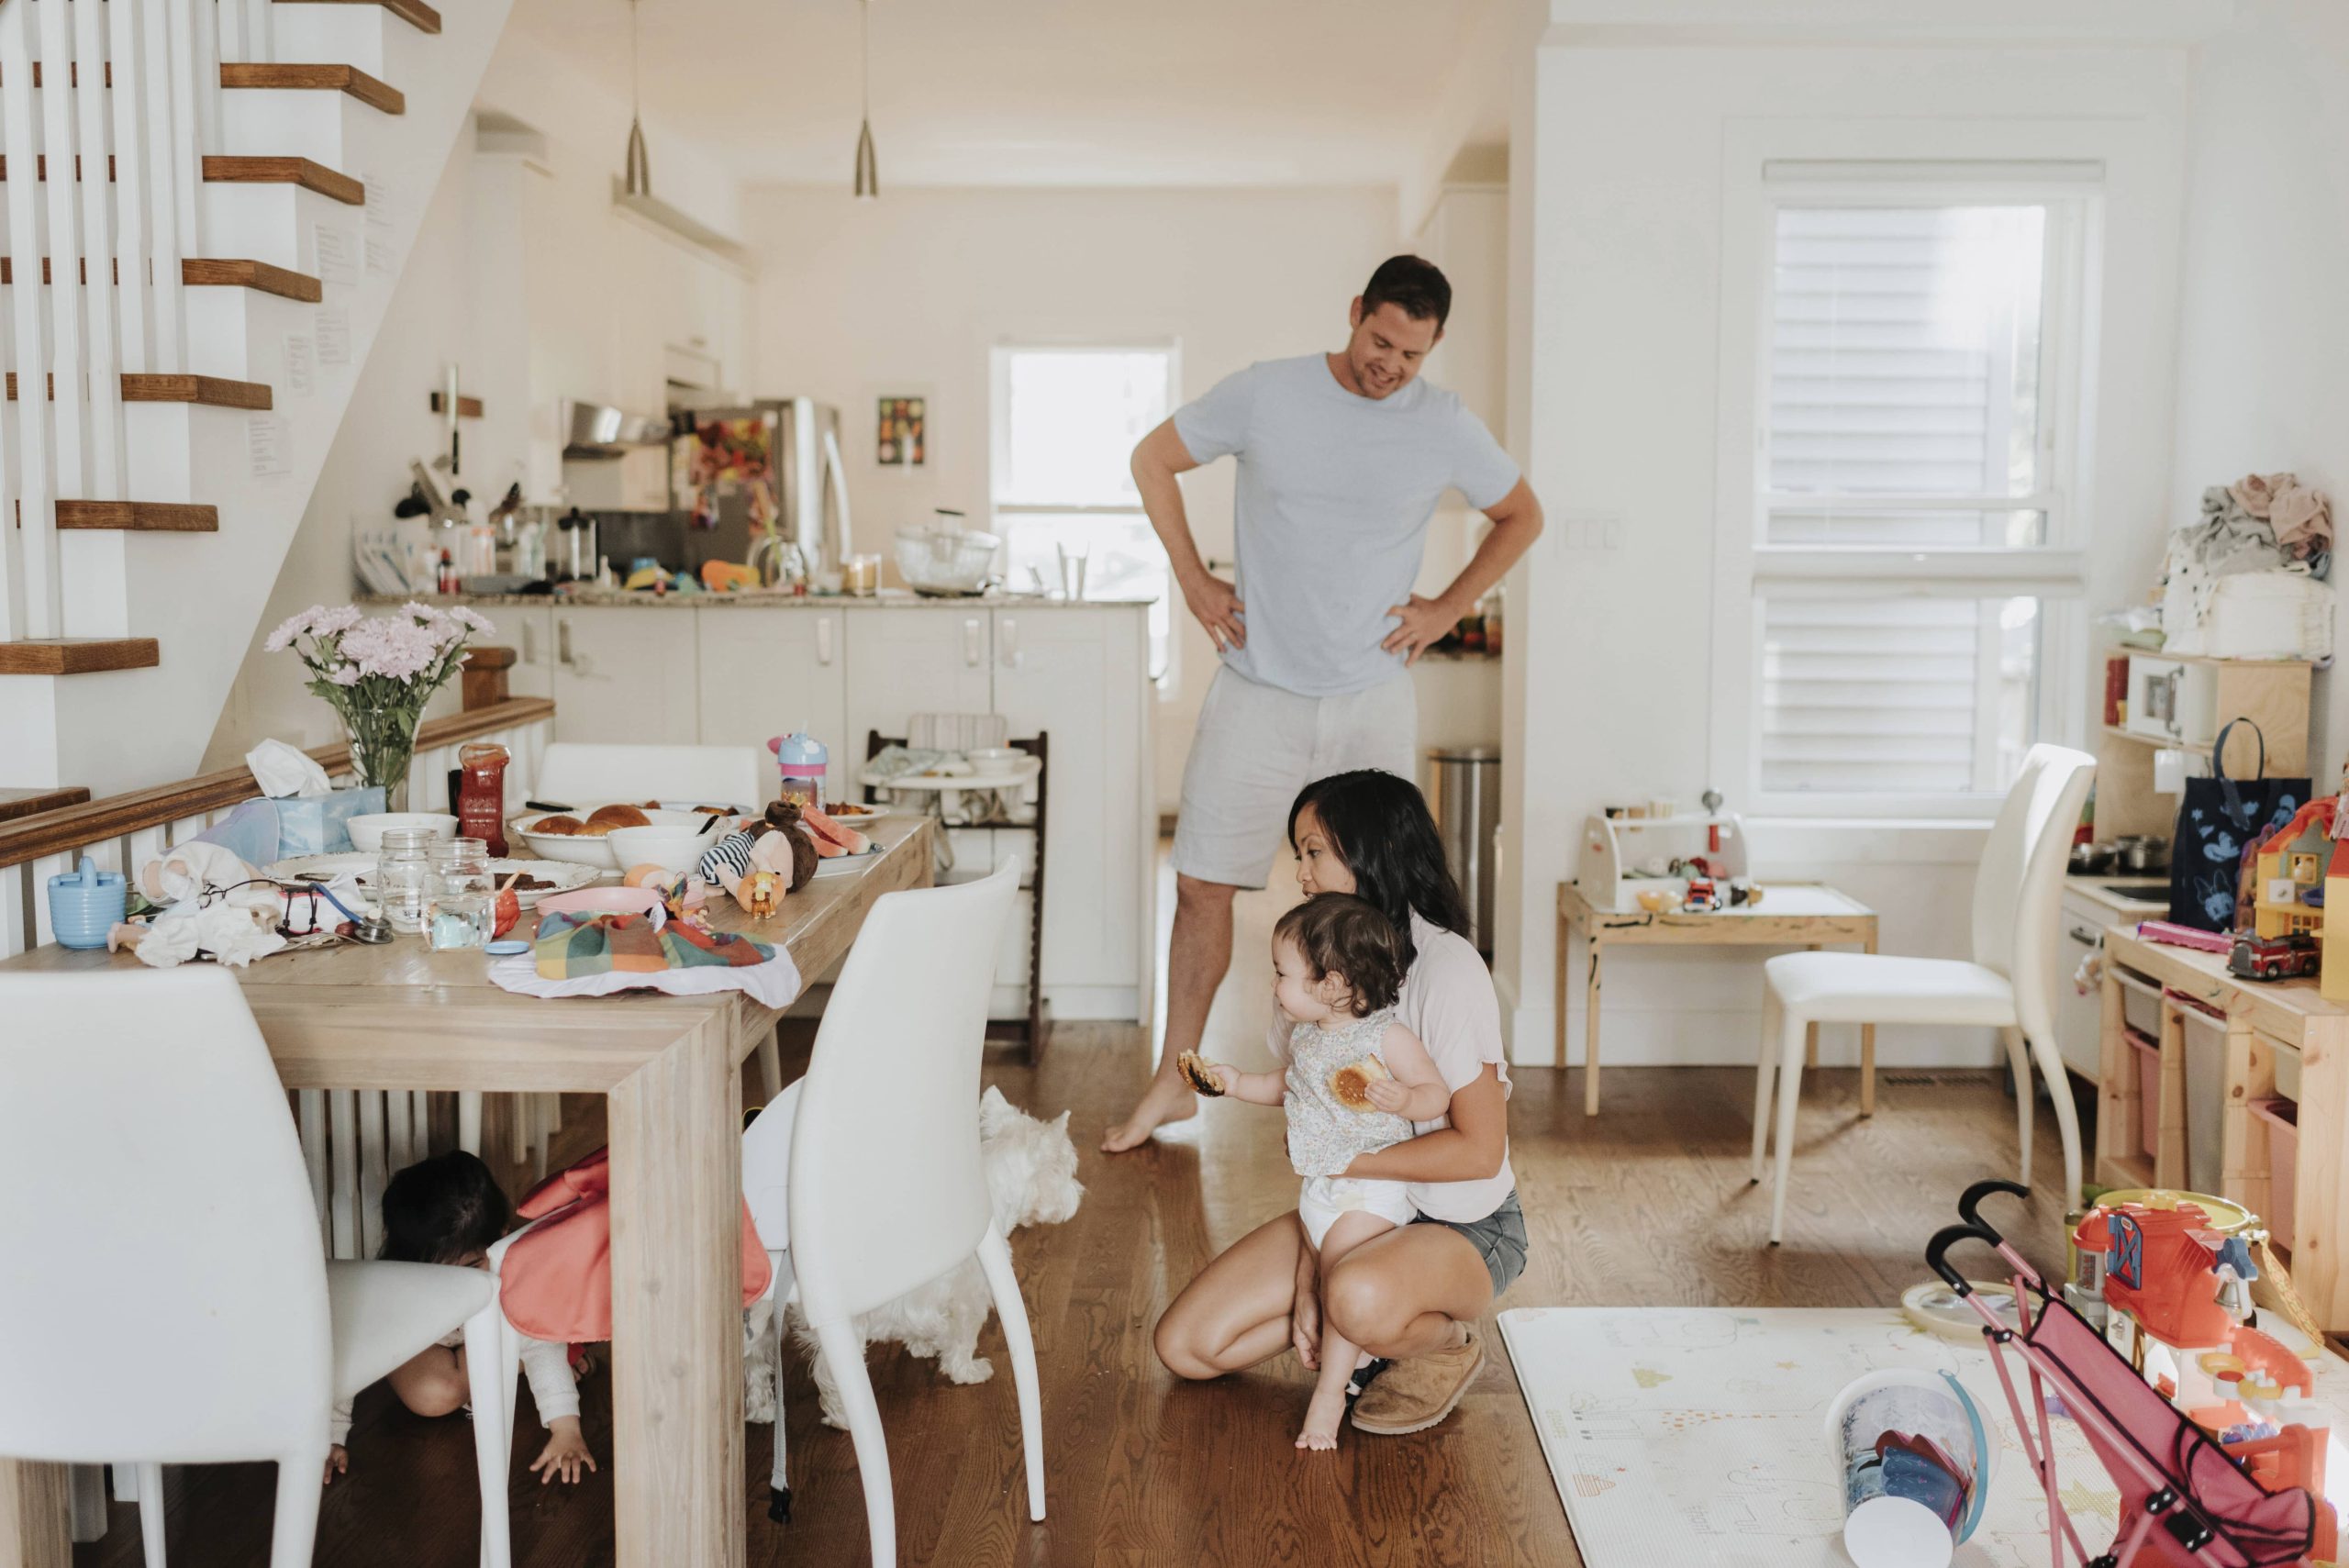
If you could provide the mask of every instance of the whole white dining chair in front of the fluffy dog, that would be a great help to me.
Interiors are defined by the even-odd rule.
[[[1012,1253],[987,1197],[977,1117],[987,998],[1017,887],[1015,859],[977,883],[876,899],[817,1026],[789,1134],[759,1136],[754,1124],[754,1136],[745,1138],[742,1181],[752,1221],[770,1256],[785,1265],[775,1272],[775,1317],[796,1289],[848,1406],[874,1568],[897,1561],[897,1514],[855,1317],[972,1253],[1012,1359],[1029,1519],[1043,1519],[1036,1345]],[[918,984],[911,984],[916,974]],[[775,1131],[782,1131],[780,1122]],[[785,1148],[787,1230],[770,1235],[773,1155]],[[782,1488],[780,1376],[773,1479]],[[782,1491],[785,1505],[787,1498]]]

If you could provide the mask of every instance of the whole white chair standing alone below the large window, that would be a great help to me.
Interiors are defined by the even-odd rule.
[[[1762,1054],[1755,1066],[1755,1162],[1771,1138],[1776,1077],[1778,1157],[1771,1174],[1769,1239],[1785,1230],[1795,1108],[1811,1023],[1957,1023],[1997,1028],[2015,1077],[2022,1183],[2032,1181],[2032,1061],[2048,1080],[2062,1134],[2062,1202],[2079,1202],[2079,1113],[2055,1052],[2058,922],[2072,829],[2088,800],[2095,758],[2067,746],[2032,746],[2022,758],[1973,873],[1973,958],[1893,953],[1781,953],[1762,965]]]

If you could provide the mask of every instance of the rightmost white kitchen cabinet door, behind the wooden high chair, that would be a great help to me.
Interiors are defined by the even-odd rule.
[[[1135,610],[994,613],[996,711],[1015,737],[1050,737],[1043,984],[1059,1016],[1130,1009],[1137,998],[1111,993],[1142,984],[1151,716],[1137,627]]]

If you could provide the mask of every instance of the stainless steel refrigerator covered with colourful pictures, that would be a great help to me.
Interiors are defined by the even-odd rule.
[[[679,406],[669,491],[684,566],[752,559],[768,530],[799,545],[808,573],[836,573],[850,549],[841,411],[813,397]],[[761,566],[773,573],[773,552]]]

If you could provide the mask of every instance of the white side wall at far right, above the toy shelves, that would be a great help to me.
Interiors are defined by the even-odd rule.
[[[2206,486],[2274,469],[2333,495],[2335,530],[2349,526],[2344,85],[2349,9],[2335,0],[2246,0],[2194,66],[2170,526],[2196,516]],[[2349,617],[2337,629],[2349,638]],[[2316,674],[2318,789],[2344,744],[2335,667]]]

